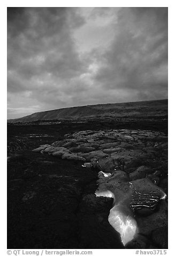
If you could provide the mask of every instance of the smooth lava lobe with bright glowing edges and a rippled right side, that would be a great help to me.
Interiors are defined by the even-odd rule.
[[[125,246],[138,230],[134,219],[135,212],[142,208],[153,212],[158,201],[165,199],[166,194],[146,178],[129,182],[127,174],[123,171],[112,174],[101,171],[98,177],[101,182],[95,195],[113,198],[113,208],[110,210],[108,221],[120,234]]]

